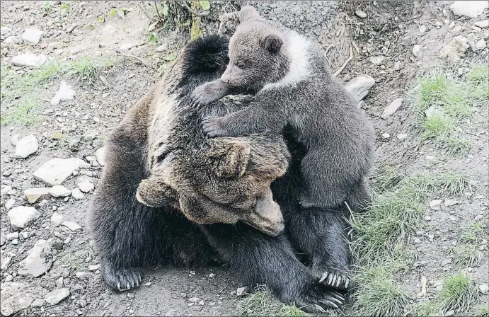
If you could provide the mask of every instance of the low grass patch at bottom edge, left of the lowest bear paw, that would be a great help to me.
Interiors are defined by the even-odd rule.
[[[256,292],[238,301],[238,316],[306,316],[296,306],[288,306],[276,299],[266,287],[260,286]]]

